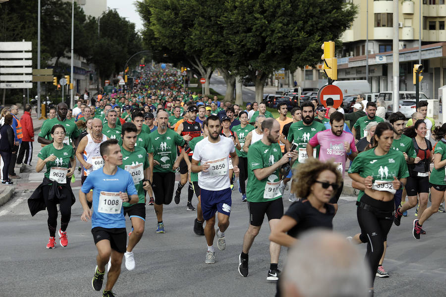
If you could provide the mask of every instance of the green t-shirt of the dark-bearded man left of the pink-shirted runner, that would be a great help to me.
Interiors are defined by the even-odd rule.
[[[292,123],[289,126],[288,137],[286,138],[292,145],[297,145],[296,150],[299,152],[299,158],[294,162],[293,167],[299,164],[299,160],[302,161],[307,155],[307,144],[310,139],[320,131],[324,131],[325,125],[318,121],[313,121],[310,126],[304,125],[303,121]],[[315,158],[319,157],[319,148],[317,146]]]

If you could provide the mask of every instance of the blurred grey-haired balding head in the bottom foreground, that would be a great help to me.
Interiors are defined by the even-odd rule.
[[[303,297],[366,297],[370,279],[358,249],[322,230],[299,237],[281,276],[282,288],[295,287]]]

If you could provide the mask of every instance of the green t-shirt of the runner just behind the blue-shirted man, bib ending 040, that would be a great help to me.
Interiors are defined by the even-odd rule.
[[[135,184],[136,191],[138,191],[139,201],[138,203],[144,203],[145,195],[143,189],[143,179],[144,179],[144,170],[149,167],[149,158],[147,157],[146,150],[144,148],[135,147],[133,151],[128,151],[125,148],[121,147],[122,153],[122,165],[119,165],[120,168],[128,171],[132,178],[135,180],[136,178],[141,179],[139,182]],[[142,164],[139,165],[139,164]],[[139,165],[139,166],[138,166]],[[127,207],[132,204],[128,202],[123,202],[122,206]]]

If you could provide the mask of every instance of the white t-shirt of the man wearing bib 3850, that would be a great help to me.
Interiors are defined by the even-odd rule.
[[[192,158],[201,164],[209,162],[210,165],[207,172],[198,173],[198,185],[201,189],[220,191],[230,187],[229,153],[234,151],[234,142],[224,136],[220,136],[220,141],[215,144],[207,137],[195,145]]]

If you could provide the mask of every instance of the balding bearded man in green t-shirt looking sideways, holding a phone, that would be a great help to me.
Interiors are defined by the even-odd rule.
[[[287,152],[282,155],[278,143],[280,124],[275,119],[266,119],[262,123],[263,137],[251,145],[248,151],[248,199],[249,227],[243,237],[242,252],[238,256],[238,272],[248,276],[248,252],[255,237],[259,234],[265,214],[268,217],[270,230],[276,226],[283,215],[282,194],[279,191],[279,169],[291,158],[293,163],[298,153]],[[277,281],[280,246],[270,242],[270,269],[267,280]]]

